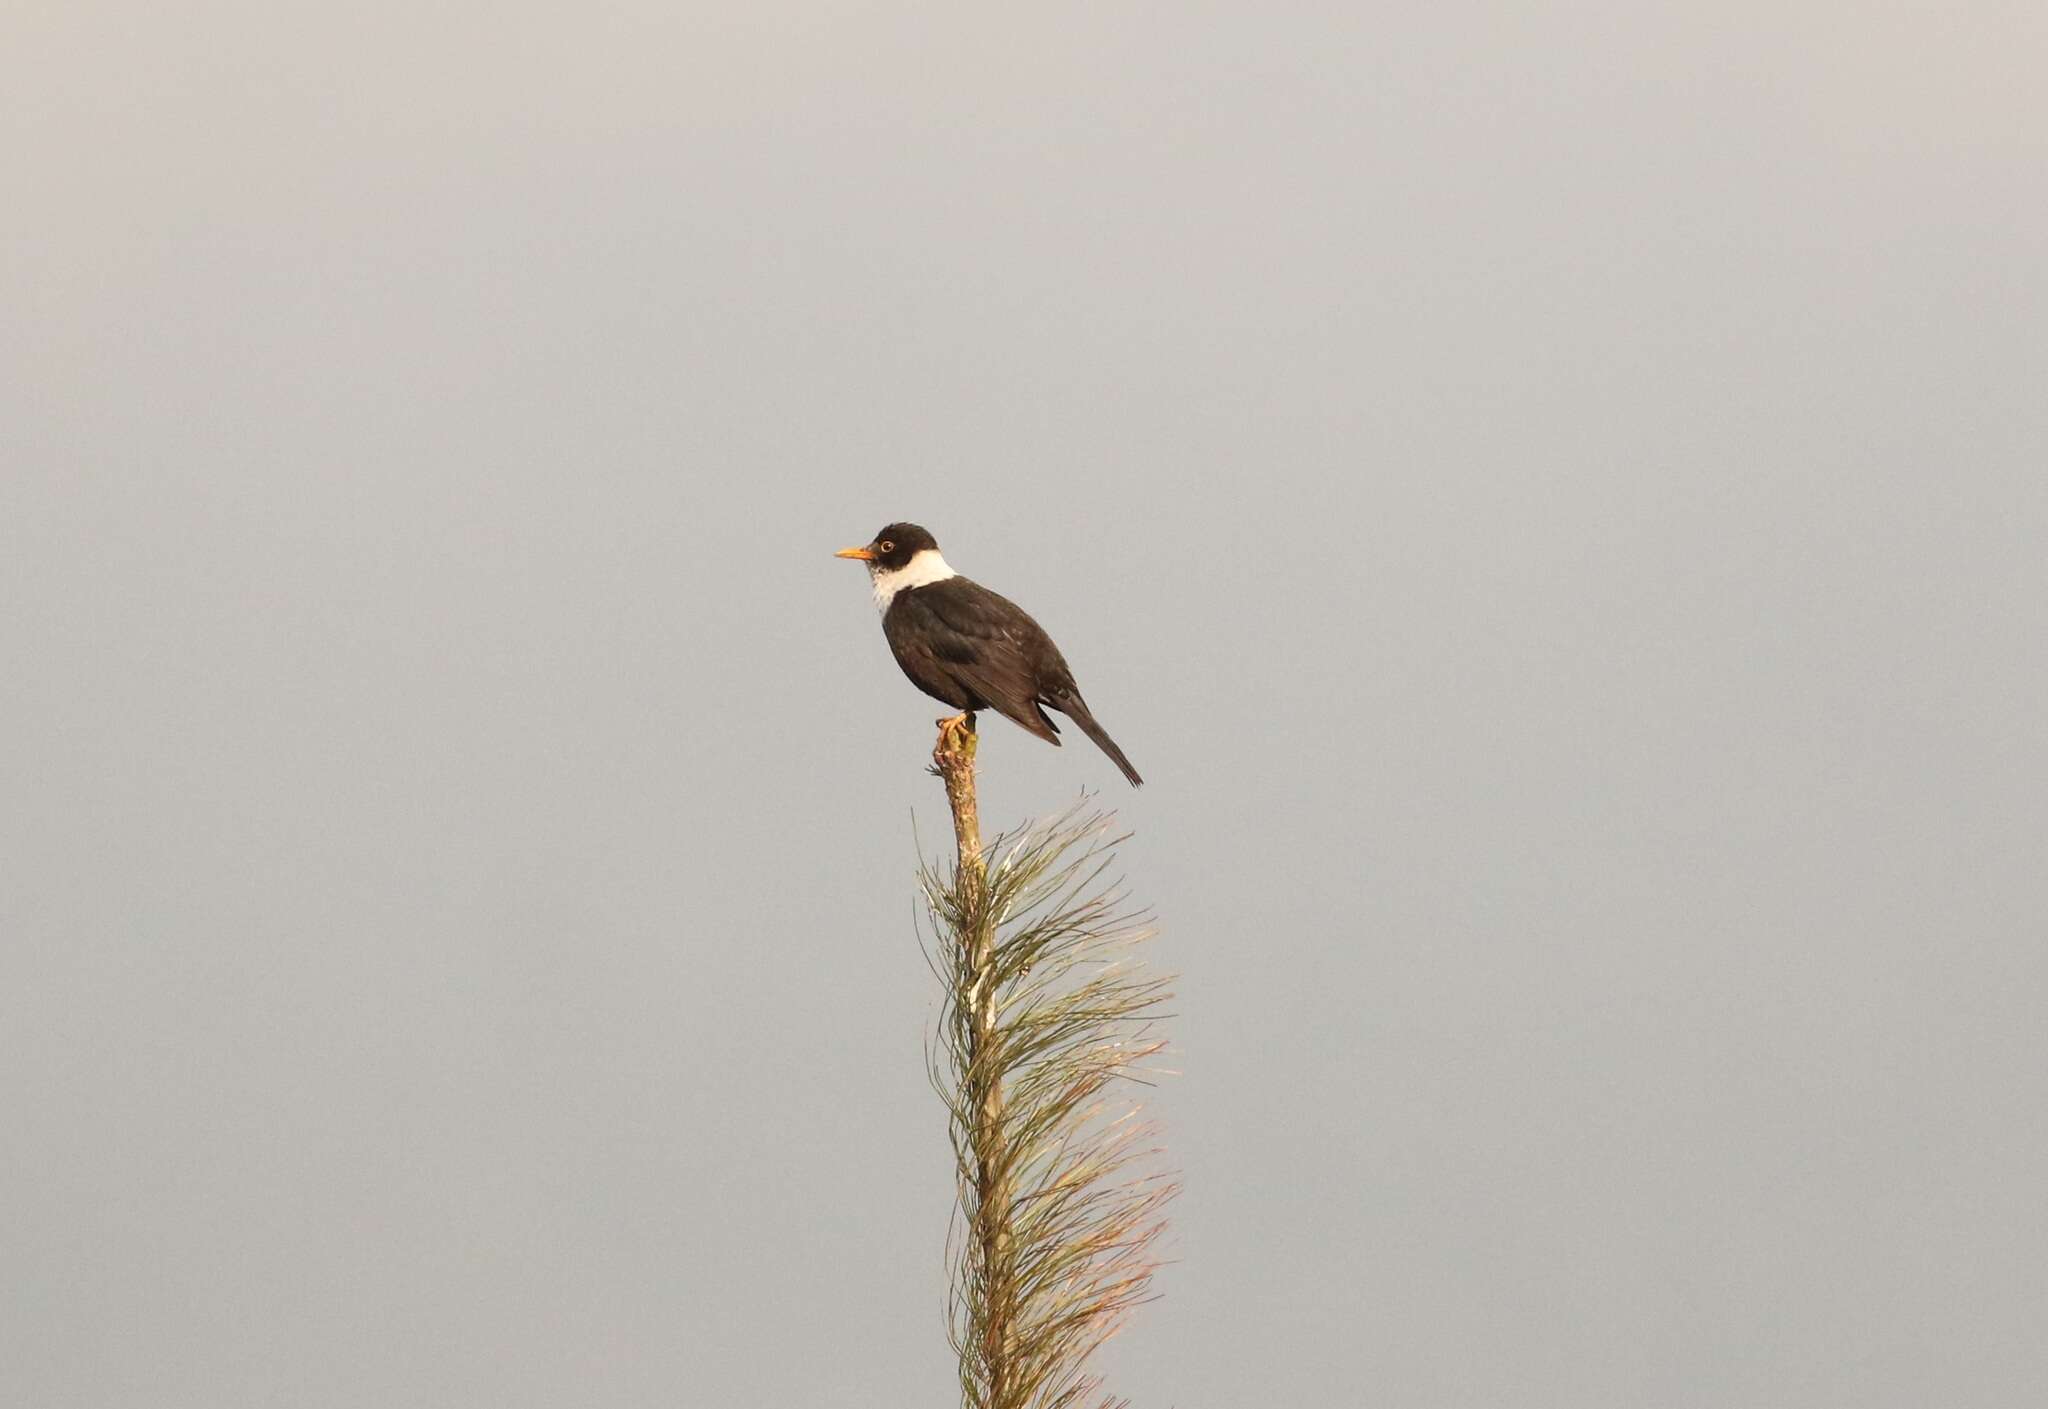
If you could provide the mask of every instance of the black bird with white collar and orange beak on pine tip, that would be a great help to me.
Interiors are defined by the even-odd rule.
[[[889,524],[858,549],[840,549],[868,565],[883,635],[909,682],[934,700],[975,713],[993,709],[1026,733],[1059,748],[1047,709],[1079,725],[1130,786],[1145,780],[1116,739],[1096,723],[1053,637],[1022,606],[946,565],[938,539],[918,524]],[[946,723],[946,721],[940,721]]]

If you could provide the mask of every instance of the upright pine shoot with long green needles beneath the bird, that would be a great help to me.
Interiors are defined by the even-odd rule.
[[[934,760],[948,766],[944,739]],[[958,766],[971,809],[971,745]],[[1180,1186],[1133,1094],[1157,1075],[1171,979],[1137,958],[1153,928],[1106,881],[1122,840],[1110,825],[1081,803],[983,852],[975,823],[958,829],[952,866],[920,868],[926,956],[946,991],[928,1065],[958,1171],[948,1262],[963,1409],[1128,1403],[1087,1360],[1153,1298]]]

